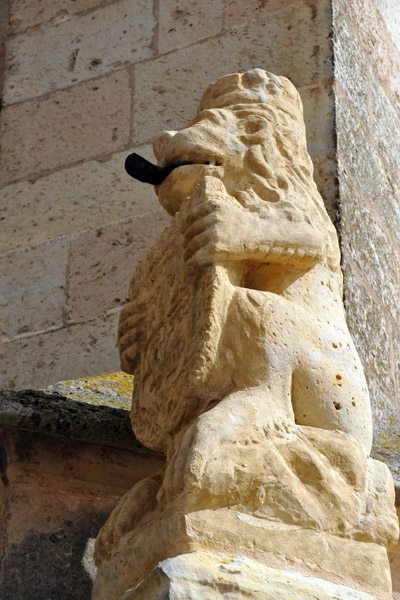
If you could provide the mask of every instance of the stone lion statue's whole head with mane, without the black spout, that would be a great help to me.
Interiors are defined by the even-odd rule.
[[[313,180],[300,95],[285,77],[253,69],[219,79],[207,88],[196,117],[180,131],[163,131],[153,146],[162,167],[178,165],[156,187],[169,214],[212,175],[250,210],[281,202],[305,218],[317,212],[331,234],[328,262],[338,267],[336,233]]]

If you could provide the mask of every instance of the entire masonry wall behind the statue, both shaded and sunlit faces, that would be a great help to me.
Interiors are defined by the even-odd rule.
[[[350,329],[375,413],[393,419],[400,24],[391,7],[9,0],[2,387],[118,369],[126,280],[167,223],[151,189],[123,172],[124,158],[151,159],[155,133],[183,126],[209,81],[259,66],[300,90],[314,177],[341,236]]]

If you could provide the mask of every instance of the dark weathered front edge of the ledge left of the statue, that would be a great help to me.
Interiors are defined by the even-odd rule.
[[[12,427],[157,455],[134,436],[129,411],[36,390],[0,392],[0,427]]]

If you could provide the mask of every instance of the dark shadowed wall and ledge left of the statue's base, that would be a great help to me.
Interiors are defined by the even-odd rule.
[[[0,600],[89,600],[99,529],[164,458],[127,411],[56,393],[0,392],[0,425]]]

